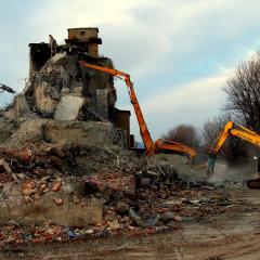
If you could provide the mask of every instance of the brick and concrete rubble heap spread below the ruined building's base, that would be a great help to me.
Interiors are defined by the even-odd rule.
[[[0,245],[153,234],[229,205],[212,186],[185,190],[182,172],[166,159],[182,161],[178,155],[152,159],[116,146],[28,143],[1,148],[0,156]]]

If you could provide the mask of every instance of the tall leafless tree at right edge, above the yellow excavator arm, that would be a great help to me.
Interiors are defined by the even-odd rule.
[[[243,118],[246,127],[260,131],[260,53],[242,62],[223,89],[226,109]]]

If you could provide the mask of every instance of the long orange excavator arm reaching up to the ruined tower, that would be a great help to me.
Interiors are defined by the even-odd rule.
[[[162,139],[157,140],[155,143],[153,142],[153,140],[151,138],[151,134],[150,134],[150,131],[148,131],[148,128],[146,126],[146,122],[144,120],[143,113],[142,113],[141,107],[139,105],[139,102],[138,102],[138,99],[136,99],[136,95],[135,95],[135,92],[134,92],[134,89],[133,89],[133,83],[130,79],[129,74],[119,72],[119,70],[114,69],[114,68],[108,68],[108,67],[103,67],[103,66],[99,66],[99,65],[94,65],[94,64],[89,64],[89,63],[86,63],[83,61],[81,61],[79,63],[83,67],[88,67],[88,68],[96,69],[96,70],[100,70],[100,72],[104,72],[104,73],[110,74],[115,77],[118,77],[118,78],[125,80],[125,82],[127,84],[127,88],[128,88],[128,93],[129,93],[131,103],[133,105],[133,108],[134,108],[134,112],[135,112],[135,115],[136,115],[136,119],[138,119],[139,127],[140,127],[140,134],[143,139],[146,155],[154,155],[154,154],[161,153],[161,152],[172,151],[172,152],[184,153],[184,154],[188,155],[192,160],[194,159],[194,157],[197,155],[196,151],[193,150],[192,147],[188,147],[188,146],[184,145],[184,144],[172,142],[172,141],[169,141],[169,140],[162,140]]]

